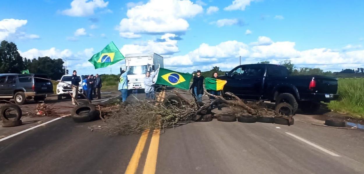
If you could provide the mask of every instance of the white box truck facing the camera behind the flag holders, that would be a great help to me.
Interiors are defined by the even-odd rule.
[[[156,53],[126,54],[125,65],[128,69],[128,89],[144,89],[144,78],[148,70],[163,68],[163,57]]]

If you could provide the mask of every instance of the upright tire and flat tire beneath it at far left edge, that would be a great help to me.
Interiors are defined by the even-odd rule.
[[[16,112],[14,117],[11,117],[9,115],[9,111],[13,110],[13,112]],[[23,113],[21,112],[21,109],[16,104],[5,104],[0,109],[0,117],[2,120],[2,126],[4,128],[7,127],[16,127],[23,124],[23,122],[20,120]]]

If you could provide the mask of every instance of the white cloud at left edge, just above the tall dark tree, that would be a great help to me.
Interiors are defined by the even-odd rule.
[[[9,35],[16,33],[18,28],[27,24],[27,20],[3,19],[0,21],[0,40],[5,40]]]

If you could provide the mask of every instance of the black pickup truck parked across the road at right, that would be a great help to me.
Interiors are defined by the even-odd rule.
[[[276,105],[292,105],[293,111],[315,112],[320,102],[337,100],[337,79],[321,75],[292,75],[284,66],[273,64],[240,65],[219,79],[226,80],[224,92],[241,99],[269,100]]]

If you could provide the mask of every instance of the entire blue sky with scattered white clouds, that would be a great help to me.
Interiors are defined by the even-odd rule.
[[[364,66],[362,7],[359,0],[13,0],[0,7],[0,40],[15,42],[23,57],[67,58],[82,74],[110,73],[87,60],[111,41],[123,54],[161,54],[182,72],[230,70],[239,56],[336,71]]]

